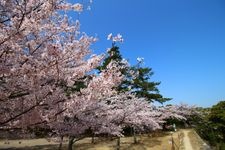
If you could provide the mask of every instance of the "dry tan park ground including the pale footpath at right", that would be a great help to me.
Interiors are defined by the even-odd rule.
[[[116,139],[85,138],[74,144],[76,150],[115,150]],[[121,138],[120,150],[205,150],[205,143],[193,129],[177,132],[137,136],[138,144],[133,144],[133,137]],[[0,140],[0,150],[55,150],[58,143],[51,139]],[[66,143],[63,145],[66,149]]]

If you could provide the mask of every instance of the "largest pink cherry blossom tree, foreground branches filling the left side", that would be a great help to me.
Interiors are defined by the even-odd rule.
[[[0,126],[47,122],[65,111],[63,87],[103,58],[90,57],[96,39],[81,34],[79,21],[66,15],[83,7],[64,0],[1,0],[0,8]]]

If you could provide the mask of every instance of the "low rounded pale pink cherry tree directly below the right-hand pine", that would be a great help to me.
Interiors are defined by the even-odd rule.
[[[132,128],[134,143],[137,143],[136,132],[160,129],[158,118],[152,105],[150,105],[144,98],[138,98],[128,92],[120,93],[114,97],[111,97],[108,102],[112,110],[108,113],[112,115],[112,121],[121,127]],[[119,147],[120,136],[118,136],[117,147]]]

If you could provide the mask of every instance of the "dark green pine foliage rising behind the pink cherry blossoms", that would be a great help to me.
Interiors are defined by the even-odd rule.
[[[111,61],[116,61],[119,65],[125,66],[122,62],[123,57],[120,54],[119,47],[115,43],[113,43],[112,48],[108,51],[108,55],[102,65],[97,69],[101,72],[101,70],[106,69]],[[144,97],[149,102],[157,101],[163,103],[170,100],[170,98],[164,98],[159,93],[157,86],[160,82],[150,81],[150,77],[153,75],[151,68],[141,67],[140,63],[138,63],[136,66],[123,67],[120,71],[125,76],[125,80],[116,87],[118,92],[132,91],[138,97]],[[134,77],[131,72],[137,73],[137,76]]]

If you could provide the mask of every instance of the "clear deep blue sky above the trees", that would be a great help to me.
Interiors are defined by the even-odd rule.
[[[121,33],[123,57],[132,64],[144,57],[170,103],[225,100],[224,0],[94,0],[91,7],[79,19],[81,31],[99,38],[95,53],[111,46],[109,33]]]

